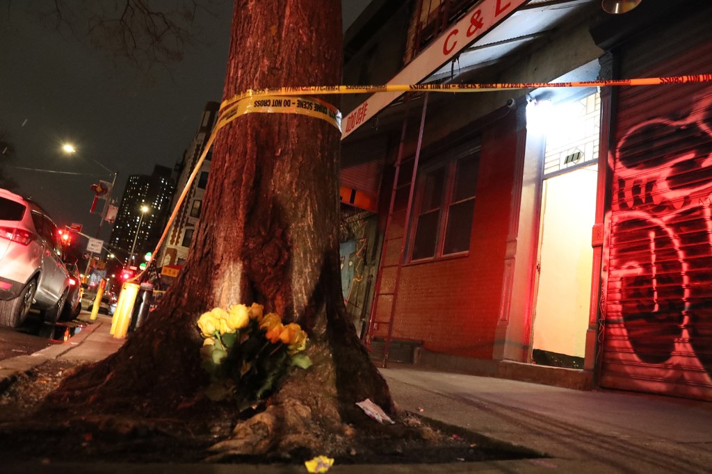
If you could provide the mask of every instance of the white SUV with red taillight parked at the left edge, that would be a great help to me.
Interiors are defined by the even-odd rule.
[[[69,273],[56,224],[38,204],[0,189],[0,325],[22,324],[31,306],[56,322]]]

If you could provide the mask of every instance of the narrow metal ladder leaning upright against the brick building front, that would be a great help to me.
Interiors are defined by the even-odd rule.
[[[409,98],[407,98],[409,100]],[[420,149],[423,141],[423,128],[425,125],[426,110],[428,105],[428,95],[424,95],[423,109],[420,117],[420,127],[418,131],[418,141],[415,151],[415,156],[409,159],[403,158],[404,144],[407,139],[407,125],[408,125],[408,113],[406,112],[406,117],[403,121],[403,127],[401,131],[401,140],[398,147],[398,157],[395,163],[395,173],[393,177],[393,186],[391,189],[391,199],[388,206],[388,216],[386,220],[386,228],[384,231],[383,246],[381,248],[381,258],[379,260],[378,275],[376,278],[375,287],[375,297],[373,300],[373,305],[371,308],[371,317],[367,332],[367,346],[371,347],[373,341],[373,336],[375,332],[382,332],[383,326],[387,327],[387,336],[385,337],[383,354],[381,360],[381,367],[386,367],[388,360],[388,352],[390,349],[390,344],[393,338],[393,320],[396,312],[396,300],[398,296],[398,289],[400,286],[401,270],[405,258],[405,248],[408,236],[408,221],[411,214],[411,208],[413,204],[413,196],[415,189],[415,180],[418,172],[418,162],[420,159]],[[408,175],[408,168],[412,166],[412,171]],[[403,180],[400,176],[403,172]],[[407,193],[407,194],[406,194]],[[402,203],[404,202],[404,196],[407,196],[407,204],[403,208]],[[402,229],[399,235],[391,235],[394,230],[392,226],[394,220],[394,214],[403,213]],[[393,251],[397,251],[397,260],[393,261]],[[389,275],[392,283],[387,285],[387,288],[383,288],[383,278],[384,273],[389,274],[395,272],[395,275]],[[380,302],[382,297],[390,299],[390,302],[384,301]],[[382,315],[379,317],[378,307],[384,304],[388,319],[384,319]],[[388,306],[389,305],[389,306]]]

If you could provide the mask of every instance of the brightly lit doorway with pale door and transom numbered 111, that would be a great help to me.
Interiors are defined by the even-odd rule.
[[[538,107],[546,149],[531,360],[582,369],[591,299],[600,95]]]

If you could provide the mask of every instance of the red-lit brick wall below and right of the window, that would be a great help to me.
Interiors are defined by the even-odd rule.
[[[394,339],[422,340],[424,349],[431,352],[492,357],[501,301],[514,154],[515,114],[511,114],[483,131],[468,255],[402,268]],[[387,235],[392,235],[392,229]],[[382,288],[392,286],[391,274],[394,272],[382,275]],[[377,319],[387,320],[389,310],[389,305],[379,305],[378,312],[386,314]],[[382,331],[375,330],[373,335],[383,336],[379,332]]]

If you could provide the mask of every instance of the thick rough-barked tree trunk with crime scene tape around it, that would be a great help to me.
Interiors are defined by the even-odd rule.
[[[340,83],[340,19],[340,0],[236,0],[224,97]],[[340,291],[339,143],[333,125],[303,115],[249,114],[221,130],[182,275],[120,352],[68,379],[51,403],[145,415],[184,409],[206,382],[201,312],[258,302],[307,330],[315,364],[239,423],[221,452],[323,448],[316,433],[357,421],[356,401],[392,412]]]

